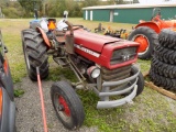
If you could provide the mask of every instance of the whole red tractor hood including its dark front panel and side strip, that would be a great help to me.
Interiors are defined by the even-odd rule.
[[[78,30],[74,35],[75,53],[100,66],[114,69],[136,62],[140,45],[136,42]]]

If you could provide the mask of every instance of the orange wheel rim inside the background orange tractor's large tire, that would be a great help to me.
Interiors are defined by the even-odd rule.
[[[150,43],[145,35],[138,34],[133,37],[132,41],[140,43],[139,55],[143,55],[147,52]]]

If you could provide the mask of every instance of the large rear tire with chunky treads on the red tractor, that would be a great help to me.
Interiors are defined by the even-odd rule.
[[[31,80],[37,80],[36,67],[40,68],[41,79],[48,76],[47,47],[42,34],[29,29],[22,31],[23,53],[26,69]]]

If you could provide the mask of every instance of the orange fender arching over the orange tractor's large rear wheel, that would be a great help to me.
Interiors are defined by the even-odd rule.
[[[160,24],[161,23],[155,23],[155,22],[142,22],[138,24],[135,29],[139,26],[148,26],[150,29],[153,29],[158,34],[161,32]]]

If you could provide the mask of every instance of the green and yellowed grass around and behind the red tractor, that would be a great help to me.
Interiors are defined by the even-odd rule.
[[[99,22],[82,19],[69,19],[74,24],[82,24],[94,31]],[[8,58],[13,82],[19,82],[26,76],[25,63],[22,52],[21,31],[29,28],[30,19],[1,20],[3,41],[8,46]],[[114,30],[131,30],[132,24],[101,22],[102,26],[109,25]],[[61,80],[64,77],[76,81],[70,69],[61,69],[50,58],[50,76],[46,80]],[[142,73],[150,69],[151,61],[138,61]],[[15,91],[21,96],[20,89]],[[85,108],[86,120],[84,125],[97,127],[100,132],[173,132],[176,131],[176,102],[161,94],[145,87],[142,95],[134,99],[133,105],[124,105],[114,109],[97,110],[99,98],[91,90],[77,91]]]

